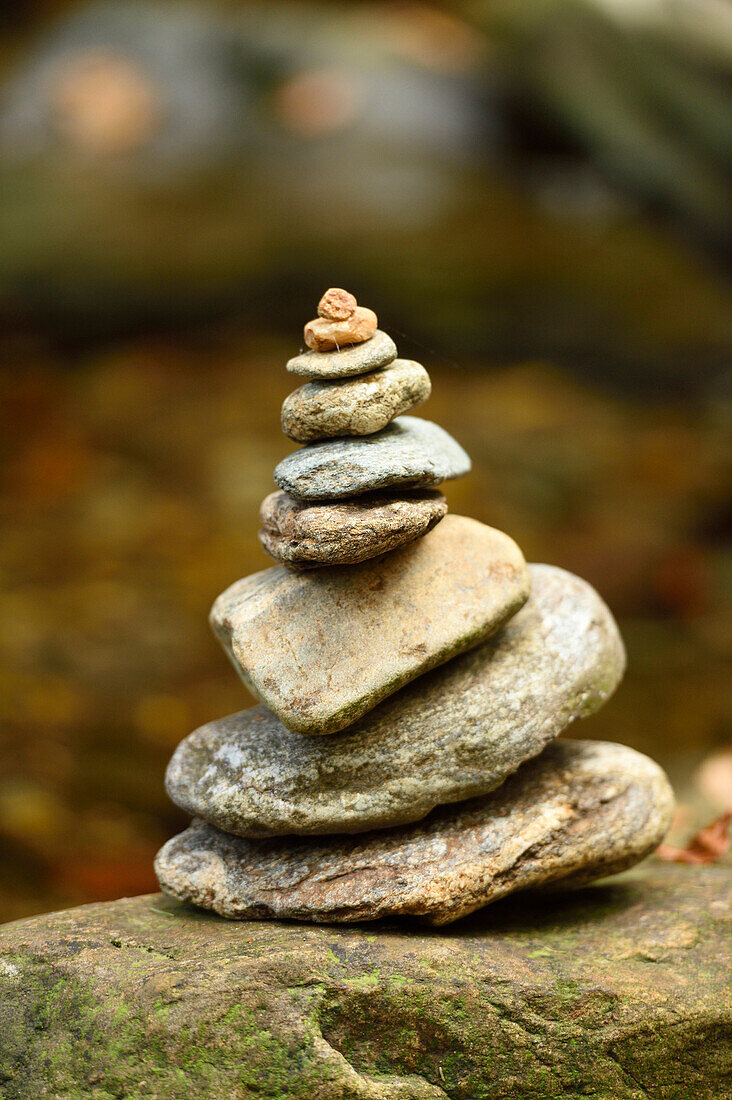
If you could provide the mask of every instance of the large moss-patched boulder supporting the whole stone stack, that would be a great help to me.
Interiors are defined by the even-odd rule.
[[[150,894],[0,930],[6,1100],[721,1100],[729,867],[655,859],[434,931]]]

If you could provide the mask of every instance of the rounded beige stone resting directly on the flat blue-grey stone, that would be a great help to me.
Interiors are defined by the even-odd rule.
[[[298,443],[337,436],[370,436],[429,397],[424,366],[395,359],[345,382],[306,382],[285,398],[282,430]]]

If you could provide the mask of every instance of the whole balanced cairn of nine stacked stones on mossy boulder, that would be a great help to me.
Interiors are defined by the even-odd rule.
[[[507,535],[447,515],[470,460],[404,416],[429,396],[376,317],[330,289],[287,364],[305,446],[274,472],[261,539],[280,563],[216,601],[214,630],[259,706],[176,749],[195,821],[162,889],[222,916],[447,924],[507,893],[643,859],[674,804],[621,745],[558,740],[625,666],[584,581],[526,565]]]

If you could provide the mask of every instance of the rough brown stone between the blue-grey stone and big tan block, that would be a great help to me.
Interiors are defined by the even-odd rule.
[[[447,501],[429,490],[326,504],[270,493],[260,508],[260,540],[284,565],[352,565],[414,542],[446,515]]]

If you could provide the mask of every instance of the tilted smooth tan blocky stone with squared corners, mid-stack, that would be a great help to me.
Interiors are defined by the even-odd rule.
[[[446,516],[360,565],[237,581],[211,609],[234,668],[288,729],[332,734],[405,683],[478,646],[526,602],[507,535]]]

